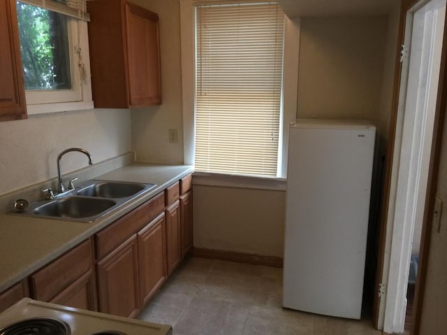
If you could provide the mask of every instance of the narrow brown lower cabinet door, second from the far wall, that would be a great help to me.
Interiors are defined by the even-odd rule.
[[[166,208],[166,263],[168,276],[179,264],[182,257],[180,237],[179,201]]]

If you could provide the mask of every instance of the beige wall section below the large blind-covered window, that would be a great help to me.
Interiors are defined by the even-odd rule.
[[[282,257],[286,192],[194,185],[197,248]]]

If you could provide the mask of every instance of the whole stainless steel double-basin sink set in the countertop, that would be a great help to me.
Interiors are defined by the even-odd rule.
[[[36,201],[13,214],[94,222],[135,197],[152,190],[155,184],[88,180],[52,200]]]

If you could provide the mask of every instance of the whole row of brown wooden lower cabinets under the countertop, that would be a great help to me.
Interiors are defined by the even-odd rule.
[[[1,292],[0,312],[31,297],[135,317],[192,248],[192,212],[189,175]]]

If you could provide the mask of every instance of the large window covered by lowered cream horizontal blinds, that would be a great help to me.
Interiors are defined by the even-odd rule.
[[[284,13],[196,7],[196,171],[277,176]]]

